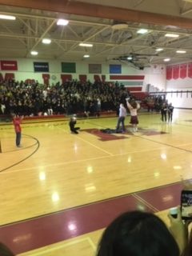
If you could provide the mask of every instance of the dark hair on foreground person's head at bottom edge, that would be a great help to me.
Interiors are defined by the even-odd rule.
[[[114,219],[102,234],[97,256],[179,256],[166,224],[154,214],[132,211]]]

